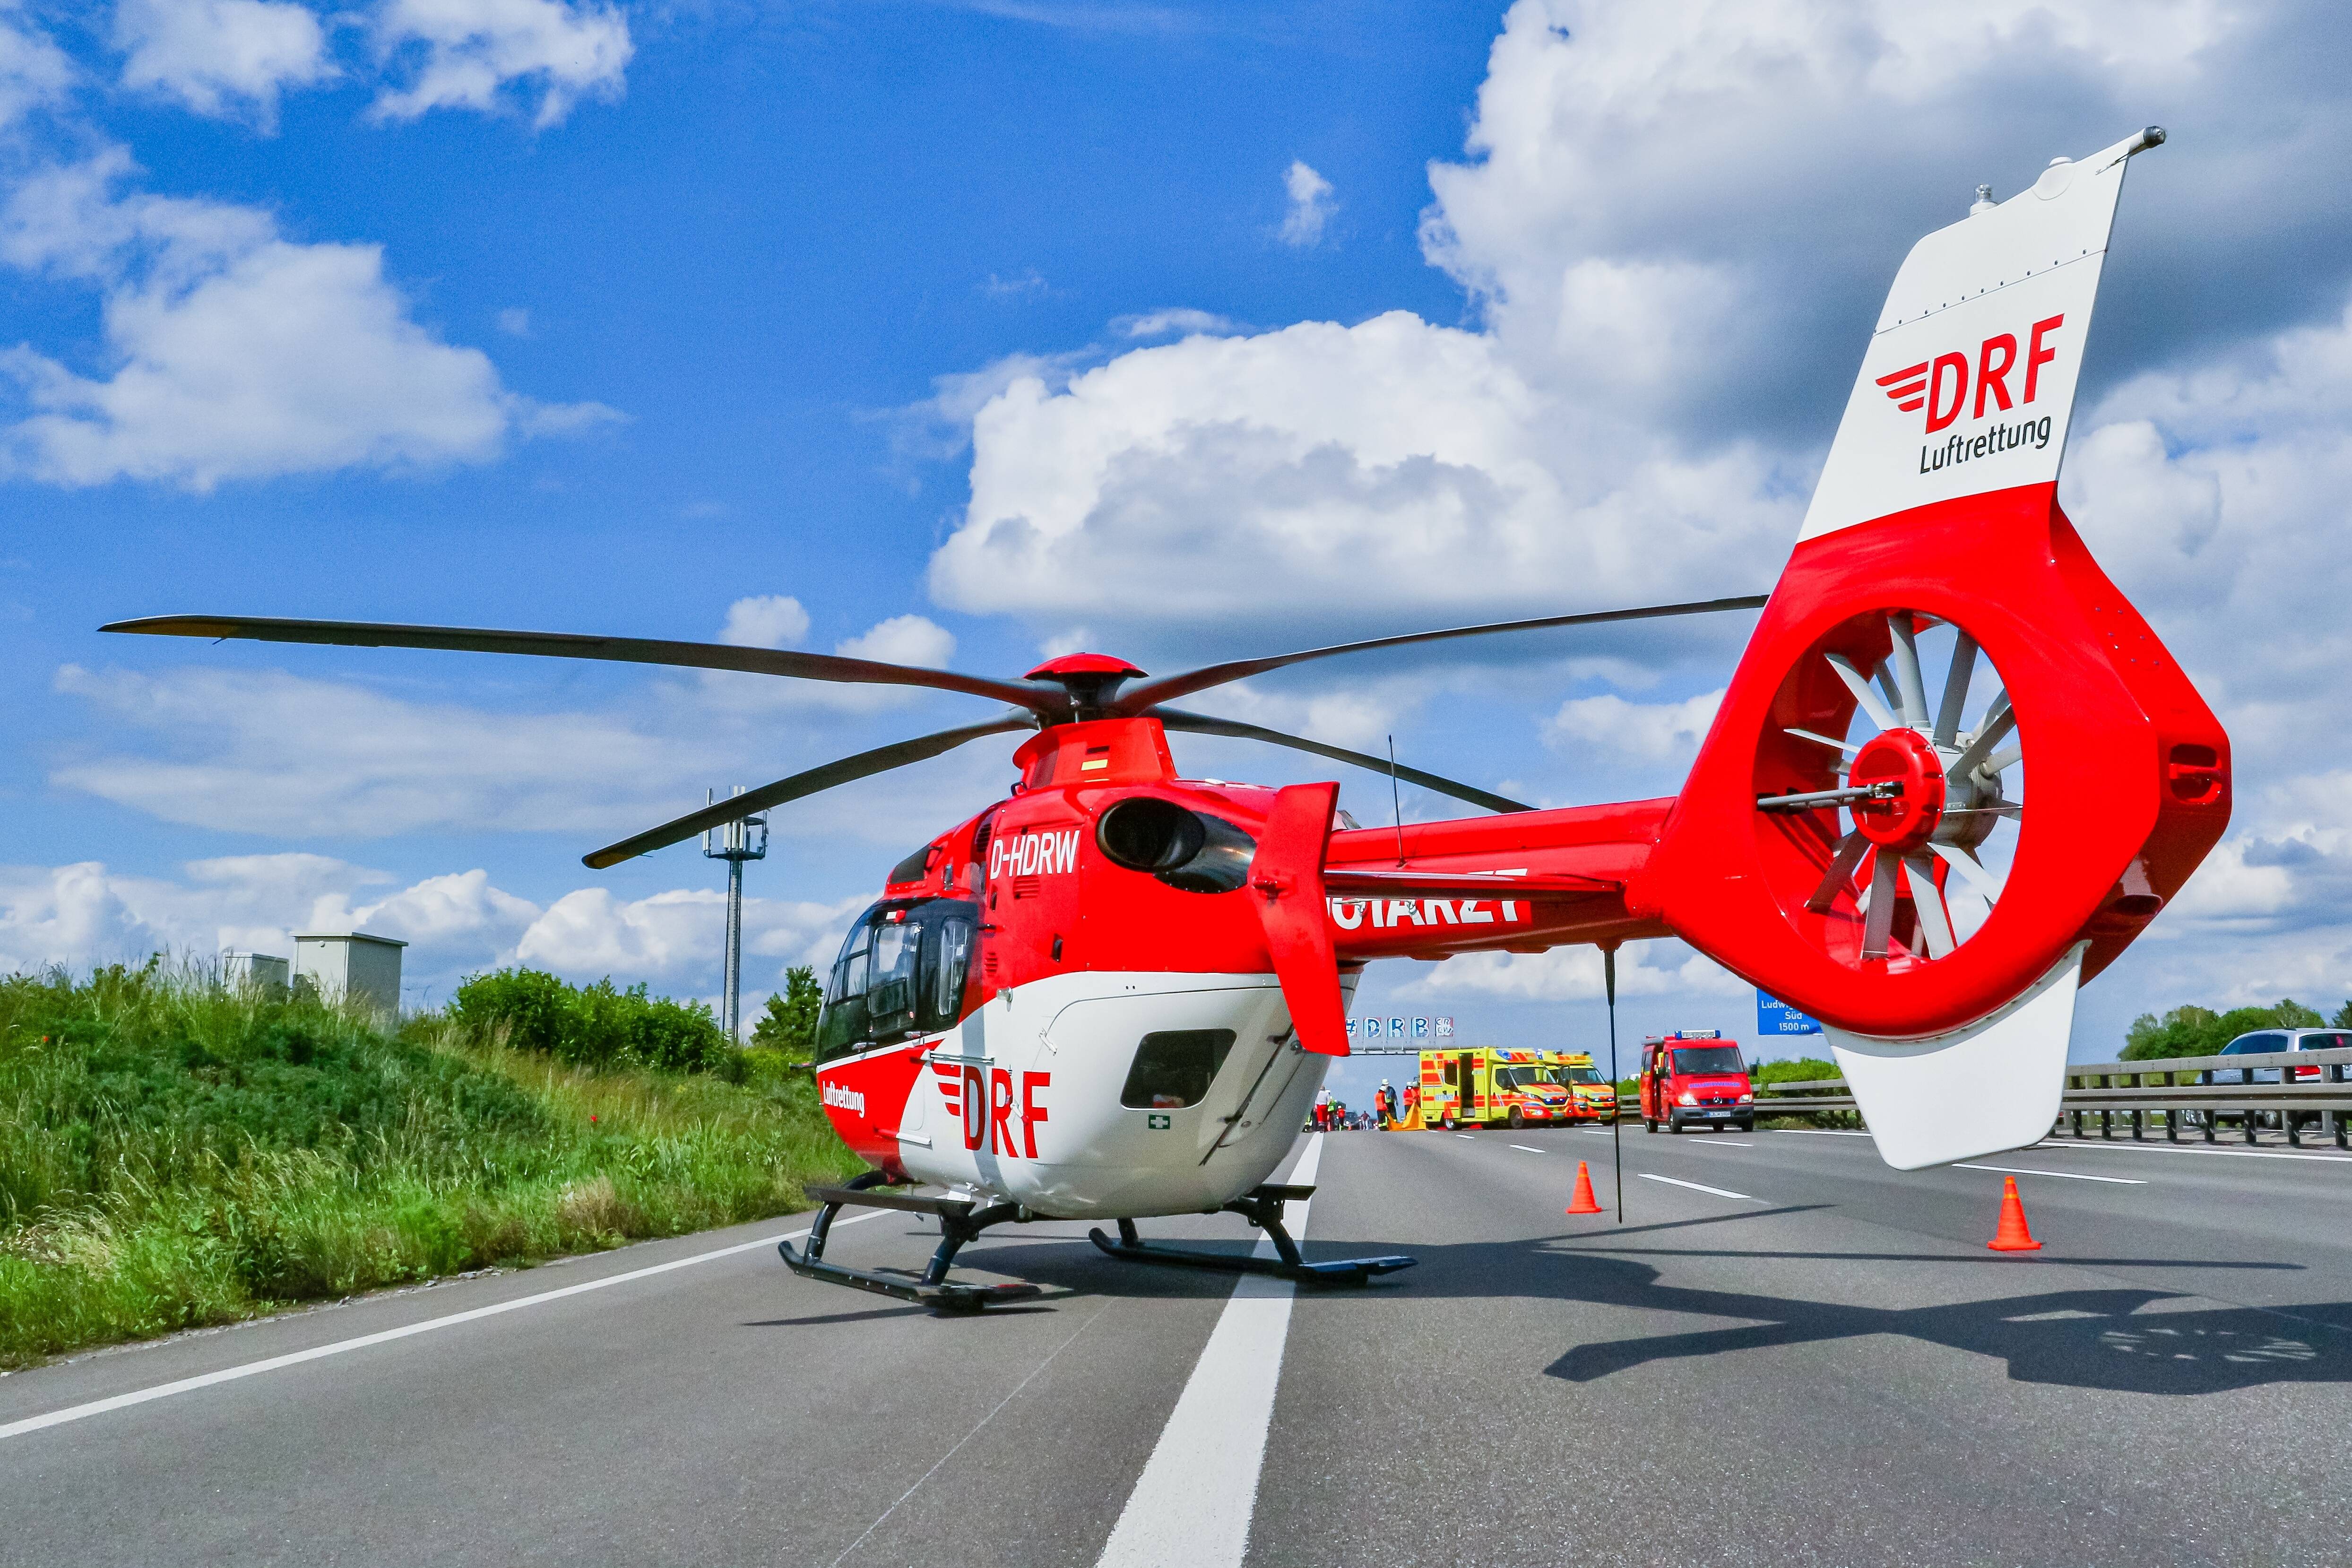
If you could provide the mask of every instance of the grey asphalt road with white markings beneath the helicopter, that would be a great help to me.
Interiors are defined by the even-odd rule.
[[[1632,1128],[1566,1218],[1609,1147],[1303,1143],[1312,1255],[1421,1258],[1362,1291],[1037,1225],[964,1255],[1051,1298],[938,1319],[710,1255],[771,1222],[19,1373],[0,1563],[2352,1561],[2352,1159],[1992,1157],[1999,1255],[1999,1171],[1830,1133]]]

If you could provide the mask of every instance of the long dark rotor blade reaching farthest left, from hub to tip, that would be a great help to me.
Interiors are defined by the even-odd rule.
[[[275,616],[146,616],[113,621],[101,632],[139,632],[146,637],[242,637],[249,642],[318,642],[350,649],[454,649],[461,654],[534,654],[539,658],[612,658],[633,665],[677,665],[684,670],[746,670],[750,675],[788,675],[866,686],[934,686],[993,696],[1037,715],[1068,715],[1070,701],[1054,686],[957,675],[955,670],[920,670],[887,665],[873,658],[840,654],[800,654],[795,649],[739,649],[727,642],[661,642],[647,637],[583,637],[576,632],[496,632],[470,625],[390,625],[376,621],[280,621]]]

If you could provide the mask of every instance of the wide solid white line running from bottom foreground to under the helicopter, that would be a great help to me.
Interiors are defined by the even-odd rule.
[[[1289,1185],[1312,1187],[1319,1161],[1322,1133],[1308,1143]],[[1308,1204],[1289,1213],[1291,1237],[1305,1239]],[[1275,1244],[1258,1241],[1258,1255],[1275,1255]],[[1096,1568],[1240,1568],[1296,1291],[1289,1279],[1268,1274],[1235,1281]]]

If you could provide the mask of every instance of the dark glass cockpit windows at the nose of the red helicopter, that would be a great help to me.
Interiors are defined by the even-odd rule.
[[[858,914],[826,983],[816,1060],[953,1027],[976,926],[978,905],[964,898],[877,903]]]

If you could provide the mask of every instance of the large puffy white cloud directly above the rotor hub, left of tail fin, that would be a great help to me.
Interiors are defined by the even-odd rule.
[[[1145,625],[1505,616],[1736,592],[1797,501],[1752,447],[1576,421],[1486,334],[1388,313],[1016,376],[931,557],[955,609]],[[1216,567],[1216,569],[1211,569]],[[1769,581],[1769,578],[1764,578]]]

